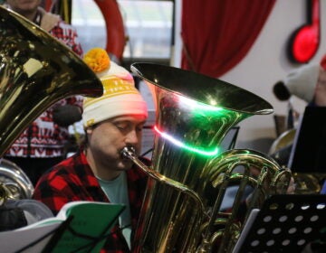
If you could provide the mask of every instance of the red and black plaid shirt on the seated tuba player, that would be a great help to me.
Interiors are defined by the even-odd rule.
[[[142,160],[145,164],[149,164],[148,160]],[[131,229],[134,232],[139,220],[147,175],[138,168],[132,167],[127,171],[127,179]],[[110,202],[101,190],[101,186],[82,152],[72,155],[45,173],[35,187],[33,198],[45,203],[53,211],[54,215],[60,211],[65,203],[70,201]],[[118,226],[114,227],[111,232],[111,236],[107,239],[101,253],[129,252],[127,242]]]

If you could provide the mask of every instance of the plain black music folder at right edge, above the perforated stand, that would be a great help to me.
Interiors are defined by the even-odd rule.
[[[326,107],[306,107],[294,136],[288,167],[295,173],[326,173]]]

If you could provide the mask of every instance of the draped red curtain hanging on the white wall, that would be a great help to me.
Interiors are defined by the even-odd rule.
[[[217,78],[254,44],[276,0],[183,0],[181,68]]]

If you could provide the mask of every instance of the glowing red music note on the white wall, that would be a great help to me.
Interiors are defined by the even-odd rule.
[[[290,39],[290,59],[306,63],[318,50],[321,33],[321,3],[319,0],[308,0],[308,23],[302,25]]]

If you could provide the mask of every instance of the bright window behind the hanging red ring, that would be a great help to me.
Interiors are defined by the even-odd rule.
[[[173,40],[173,1],[118,0],[128,38],[124,59],[169,59]],[[82,48],[106,46],[103,14],[92,0],[72,0],[72,25]]]

